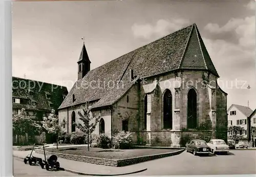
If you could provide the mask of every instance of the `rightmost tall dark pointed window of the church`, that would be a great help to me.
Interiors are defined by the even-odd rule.
[[[197,93],[190,89],[187,94],[187,128],[197,127]]]

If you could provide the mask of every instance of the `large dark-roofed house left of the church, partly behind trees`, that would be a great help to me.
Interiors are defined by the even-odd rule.
[[[12,77],[12,112],[19,114],[25,108],[27,114],[38,123],[44,117],[48,117],[52,109],[60,106],[61,102],[68,95],[67,87],[51,83]],[[46,137],[48,143],[52,143],[51,136]],[[22,139],[24,144],[41,143],[44,136],[27,135]],[[16,135],[13,136],[13,143],[17,143]]]

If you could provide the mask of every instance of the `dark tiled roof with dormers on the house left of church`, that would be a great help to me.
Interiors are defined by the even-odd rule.
[[[29,95],[29,91],[32,95]],[[66,95],[68,90],[65,86],[12,77],[12,97],[24,99],[24,103],[13,103],[13,108],[50,110],[49,104],[53,104],[53,108],[57,109]],[[33,105],[32,101],[35,101],[36,105]]]

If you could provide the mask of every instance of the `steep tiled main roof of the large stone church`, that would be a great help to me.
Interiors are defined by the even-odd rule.
[[[169,34],[89,71],[74,84],[59,109],[93,100],[99,100],[93,107],[112,105],[133,85],[130,69],[140,78],[178,69],[208,70],[218,76],[214,67],[207,67],[212,62],[205,61],[210,58],[205,57],[201,48],[205,49],[195,24]],[[191,59],[195,55],[198,57]],[[121,80],[119,85],[118,80]],[[110,86],[108,83],[111,83]],[[76,98],[74,102],[73,94]]]

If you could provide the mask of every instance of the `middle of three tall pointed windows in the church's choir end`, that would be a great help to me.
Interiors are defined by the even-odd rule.
[[[173,96],[170,90],[166,90],[163,96],[163,128],[173,128]]]

